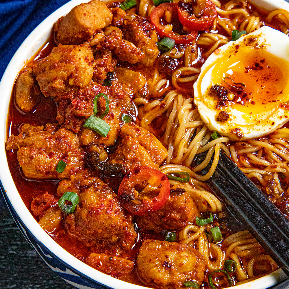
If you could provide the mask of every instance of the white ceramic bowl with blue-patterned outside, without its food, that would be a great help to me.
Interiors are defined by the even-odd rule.
[[[51,34],[53,23],[67,14],[74,6],[85,0],[72,0],[53,12],[21,44],[11,59],[0,83],[0,187],[8,208],[16,221],[19,229],[24,234],[30,245],[36,250],[44,262],[60,277],[71,285],[81,288],[114,288],[114,289],[145,289],[146,287],[130,284],[104,273],[81,262],[60,247],[38,225],[27,210],[11,177],[5,153],[7,112],[14,80],[24,66],[38,49],[47,41]],[[289,11],[289,4],[281,0],[252,0],[252,3],[268,10],[283,8]],[[281,269],[254,281],[234,286],[234,289],[264,289],[286,279],[287,276]]]

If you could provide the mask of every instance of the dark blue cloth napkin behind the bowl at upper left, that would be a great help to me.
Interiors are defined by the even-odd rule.
[[[10,59],[30,32],[68,1],[0,0],[0,79]]]

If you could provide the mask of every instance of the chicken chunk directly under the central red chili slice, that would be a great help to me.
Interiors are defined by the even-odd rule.
[[[196,216],[200,216],[199,210],[188,193],[171,192],[164,208],[148,216],[136,216],[136,223],[140,229],[160,233],[192,224]]]

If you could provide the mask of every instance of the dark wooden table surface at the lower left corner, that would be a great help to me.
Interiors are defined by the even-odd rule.
[[[16,226],[0,193],[0,288],[75,289],[56,275]]]

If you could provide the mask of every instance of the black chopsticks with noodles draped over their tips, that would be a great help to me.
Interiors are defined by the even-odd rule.
[[[196,163],[205,156],[197,155]],[[212,159],[208,168],[211,164]],[[222,151],[216,171],[205,183],[289,276],[289,220]]]

